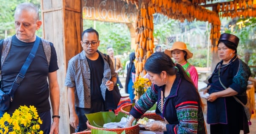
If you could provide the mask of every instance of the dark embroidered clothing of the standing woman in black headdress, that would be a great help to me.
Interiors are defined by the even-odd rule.
[[[223,61],[219,62],[209,78],[209,94],[225,90],[225,87],[230,87],[237,91],[236,97],[244,104],[247,103],[247,81],[250,77],[250,68],[240,60],[237,56],[230,60],[230,63],[222,65]],[[220,68],[220,72],[218,69]],[[218,74],[219,73],[219,74]],[[219,81],[219,77],[221,83]],[[236,112],[234,112],[236,111]],[[248,123],[244,114],[243,106],[238,103],[232,96],[219,97],[213,102],[207,101],[207,123],[208,124],[229,124],[233,126],[239,125],[241,130],[249,132]]]

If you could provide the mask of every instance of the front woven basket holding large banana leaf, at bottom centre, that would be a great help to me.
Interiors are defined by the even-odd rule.
[[[117,134],[121,134],[124,130],[125,130],[125,134],[139,134],[140,133],[139,124],[136,124],[136,125],[128,127],[128,128],[97,128],[97,127],[94,127],[94,126],[90,125],[89,121],[87,120],[86,125],[90,129],[100,129],[100,130],[114,131]]]

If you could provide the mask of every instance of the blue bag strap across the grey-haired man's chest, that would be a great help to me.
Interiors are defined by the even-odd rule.
[[[40,38],[38,36],[36,36],[34,46],[33,46],[32,50],[30,51],[29,56],[26,58],[26,61],[23,64],[23,66],[21,67],[19,74],[17,75],[15,81],[12,83],[12,87],[8,93],[11,96],[13,96],[13,94],[15,93],[18,86],[20,86],[21,81],[24,79],[26,71],[28,70],[32,60],[34,59],[36,51],[38,50],[39,43],[40,43]],[[12,100],[12,98],[11,98],[11,100]]]

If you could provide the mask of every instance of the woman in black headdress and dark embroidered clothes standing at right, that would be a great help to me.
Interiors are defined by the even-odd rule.
[[[238,37],[227,33],[221,34],[218,40],[221,61],[204,90],[210,94],[206,99],[211,134],[240,134],[240,130],[244,130],[244,134],[250,132],[244,108],[233,97],[247,103],[247,81],[251,74],[246,63],[238,58],[238,43]]]

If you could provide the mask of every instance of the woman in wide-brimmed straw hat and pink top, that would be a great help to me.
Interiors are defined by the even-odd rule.
[[[198,88],[198,72],[195,66],[191,65],[187,60],[192,58],[193,54],[187,49],[186,44],[183,42],[175,42],[171,49],[166,49],[165,54],[173,57],[176,63],[179,63],[188,76],[192,79],[195,87]]]

